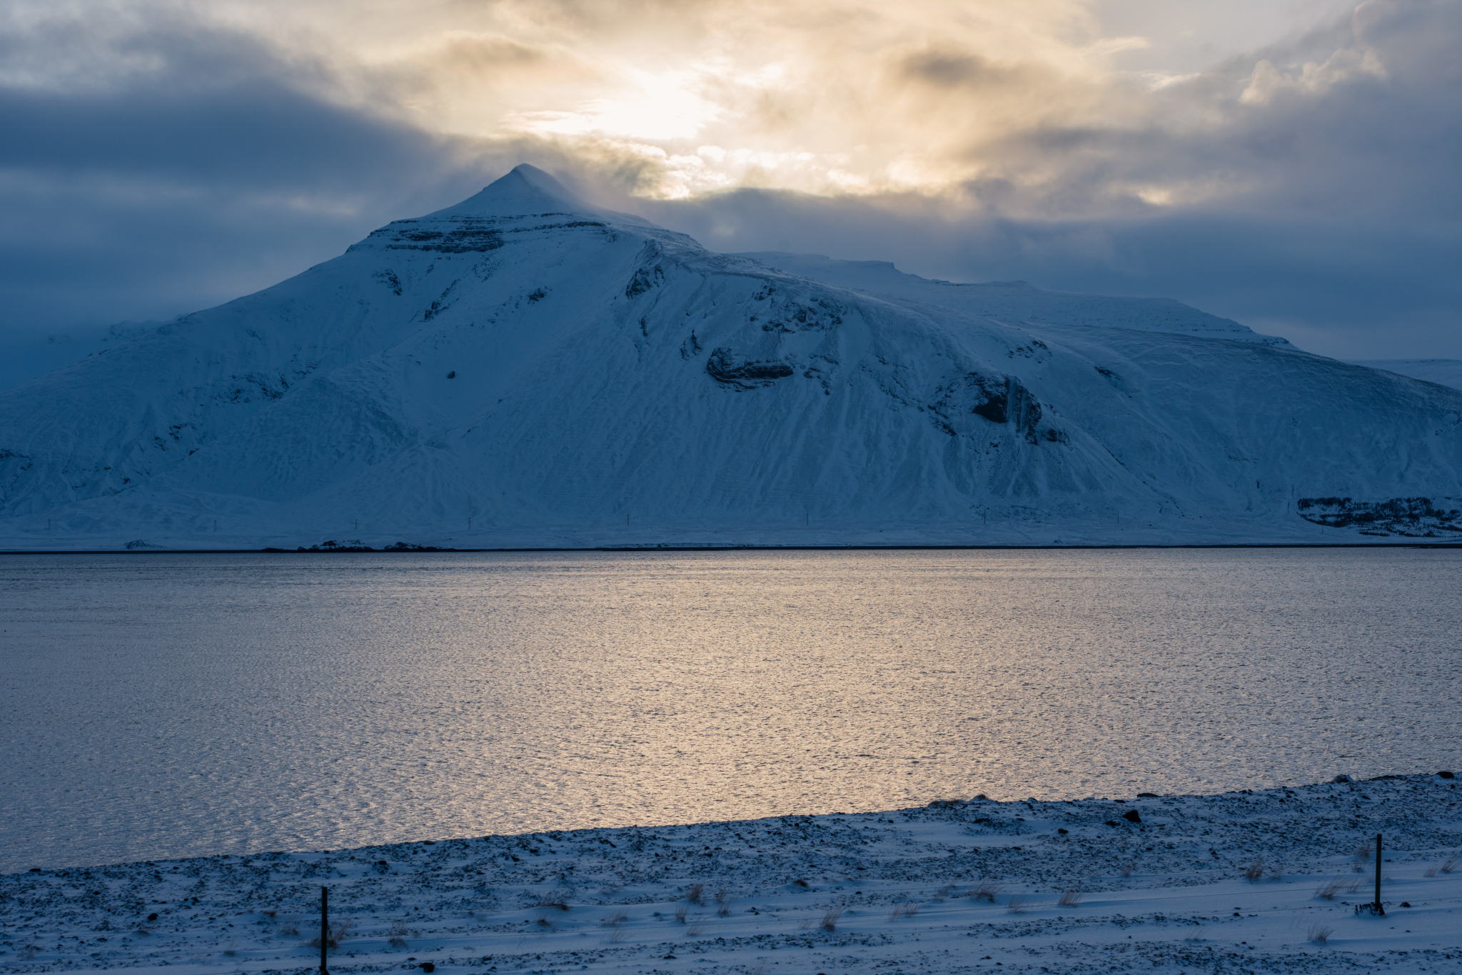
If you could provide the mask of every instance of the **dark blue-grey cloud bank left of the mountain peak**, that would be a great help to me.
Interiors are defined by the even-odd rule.
[[[254,291],[481,186],[449,140],[332,101],[319,63],[212,23],[92,20],[79,35],[54,16],[4,35],[10,338]]]

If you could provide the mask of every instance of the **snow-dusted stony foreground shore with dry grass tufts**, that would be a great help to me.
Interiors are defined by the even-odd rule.
[[[0,971],[304,972],[327,884],[336,975],[1462,972],[1459,848],[1456,779],[1412,775],[39,868]]]

